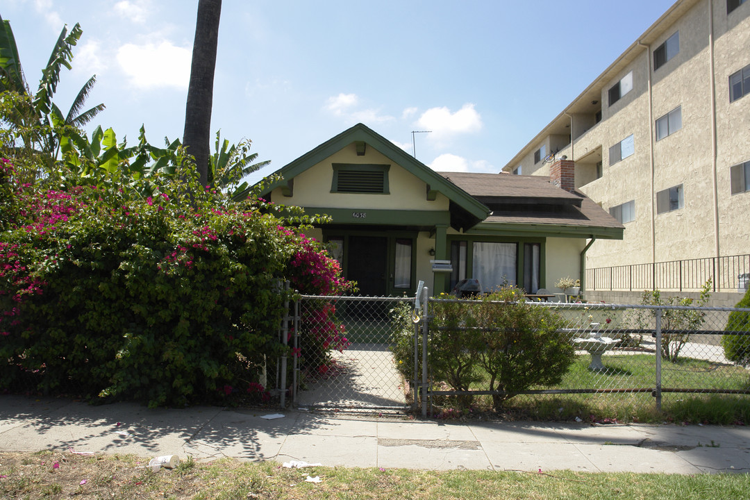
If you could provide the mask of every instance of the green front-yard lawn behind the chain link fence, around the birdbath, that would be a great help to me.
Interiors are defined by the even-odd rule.
[[[520,394],[505,402],[508,418],[542,421],[583,421],[610,419],[621,422],[690,424],[750,423],[750,396],[747,394],[662,393],[661,412],[651,391],[656,386],[656,368],[652,354],[613,354],[602,357],[604,372],[589,370],[589,355],[577,355],[574,363],[557,385],[537,386],[539,389],[641,389],[640,392],[610,394]],[[662,361],[662,388],[741,389],[750,388],[750,371],[742,367],[716,364],[691,358],[675,363]],[[486,382],[484,382],[486,384]],[[486,389],[479,383],[475,390]],[[438,400],[440,402],[440,400]],[[450,408],[452,399],[445,398],[443,407]],[[477,396],[474,405],[487,410],[491,398]],[[444,413],[444,412],[443,412]],[[442,415],[440,409],[435,415]]]

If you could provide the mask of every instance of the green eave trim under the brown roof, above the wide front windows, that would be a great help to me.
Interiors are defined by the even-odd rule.
[[[624,229],[615,227],[565,226],[562,224],[520,224],[481,222],[466,230],[469,235],[528,236],[529,238],[571,237],[621,240]]]

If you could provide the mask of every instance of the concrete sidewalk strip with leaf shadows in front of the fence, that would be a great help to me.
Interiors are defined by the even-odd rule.
[[[451,423],[214,407],[88,406],[0,396],[0,450],[94,451],[183,460],[304,460],[324,466],[549,472],[750,472],[750,428]]]

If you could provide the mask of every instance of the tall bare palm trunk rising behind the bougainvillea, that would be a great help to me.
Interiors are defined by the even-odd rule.
[[[200,183],[208,184],[211,104],[214,97],[214,68],[219,37],[221,0],[199,0],[193,40],[193,62],[187,87],[185,127],[182,144],[195,157]]]

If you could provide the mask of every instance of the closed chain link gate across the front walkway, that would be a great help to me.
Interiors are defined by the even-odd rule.
[[[398,409],[410,382],[395,366],[398,311],[414,298],[302,295],[291,328],[293,406]]]

